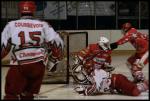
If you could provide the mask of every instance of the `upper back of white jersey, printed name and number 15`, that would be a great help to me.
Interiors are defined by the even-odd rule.
[[[43,42],[44,30],[43,22],[33,19],[20,19],[11,21],[10,37],[16,46],[36,45],[40,46]]]

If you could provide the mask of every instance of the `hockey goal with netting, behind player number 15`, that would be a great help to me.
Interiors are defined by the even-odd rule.
[[[60,32],[60,35],[64,41],[64,57],[55,72],[46,70],[43,83],[69,83],[74,55],[88,45],[87,32]]]

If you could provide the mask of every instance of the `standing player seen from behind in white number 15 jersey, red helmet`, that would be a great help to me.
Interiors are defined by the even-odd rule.
[[[1,36],[1,58],[12,49],[4,100],[32,100],[40,91],[48,53],[57,61],[63,49],[59,34],[45,21],[34,18],[33,1],[19,2],[19,11],[21,19],[8,22]]]

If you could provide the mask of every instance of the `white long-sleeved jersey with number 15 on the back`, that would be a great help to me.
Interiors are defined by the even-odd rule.
[[[48,23],[34,19],[20,19],[8,22],[5,26],[1,47],[5,48],[10,40],[12,48],[11,64],[28,64],[45,60],[45,42],[55,40],[63,46],[63,41]]]

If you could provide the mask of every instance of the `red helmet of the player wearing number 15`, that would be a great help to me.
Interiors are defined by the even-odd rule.
[[[33,14],[36,10],[35,2],[33,1],[21,1],[19,3],[19,11],[21,14]]]

